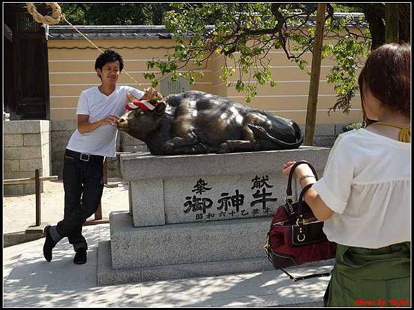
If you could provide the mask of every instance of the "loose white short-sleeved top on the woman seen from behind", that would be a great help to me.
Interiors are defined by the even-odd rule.
[[[328,240],[370,249],[411,240],[411,143],[365,129],[340,134],[313,188],[335,212]]]

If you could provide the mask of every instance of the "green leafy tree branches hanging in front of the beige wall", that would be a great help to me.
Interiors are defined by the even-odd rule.
[[[277,12],[280,15],[275,17],[272,3],[168,3],[170,8],[165,12],[164,20],[166,27],[175,35],[175,48],[164,56],[166,61],[154,59],[147,63],[148,70],[157,68],[161,74],[146,76],[149,79],[164,74],[177,77],[178,70],[190,70],[183,67],[184,63],[188,63],[191,68],[199,68],[206,65],[204,58],[208,55],[210,60],[217,55],[223,55],[224,65],[221,65],[219,79],[226,85],[235,87],[237,92],[244,92],[246,101],[250,102],[257,95],[257,85],[277,85],[271,70],[267,68],[273,61],[269,53],[272,49],[286,48],[289,59],[293,59],[306,74],[311,74],[303,52],[313,50],[315,28],[305,26],[301,31],[291,31],[295,25],[305,21],[297,12],[306,10],[306,6],[302,3],[278,4]],[[124,3],[124,6],[127,5],[130,3]],[[332,5],[339,8],[336,3]],[[371,6],[371,3],[366,5]],[[315,14],[316,12],[313,15]],[[246,32],[253,29],[276,29],[280,17],[286,18],[282,21],[280,32],[254,35],[251,31]],[[338,95],[335,107],[344,112],[349,110],[352,96],[355,95],[357,69],[362,67],[362,59],[369,54],[371,48],[371,39],[358,39],[344,30],[347,19],[350,20],[350,17],[326,21],[326,34],[330,39],[322,46],[322,57],[335,62],[326,79],[333,84]],[[214,25],[215,28],[206,29],[206,25]],[[331,39],[334,31],[340,34],[337,39]],[[192,36],[187,37],[188,33]],[[280,34],[283,37],[279,38]],[[364,34],[370,37],[368,28],[364,30]],[[282,45],[285,40],[286,46]],[[210,64],[209,61],[208,65]],[[234,74],[235,68],[238,68],[237,81],[228,83],[228,77]],[[200,76],[196,73],[189,72],[185,77],[190,83],[195,83]],[[242,83],[247,80],[249,83]]]

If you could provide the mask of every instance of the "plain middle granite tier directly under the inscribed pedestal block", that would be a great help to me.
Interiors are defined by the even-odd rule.
[[[110,214],[112,268],[139,268],[221,260],[266,260],[271,218],[134,227],[126,211]]]

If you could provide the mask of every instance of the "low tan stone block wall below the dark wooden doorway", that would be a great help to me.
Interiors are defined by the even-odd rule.
[[[3,178],[50,176],[50,121],[3,122]],[[6,195],[34,194],[34,184],[4,185]],[[41,183],[43,192],[43,183]]]

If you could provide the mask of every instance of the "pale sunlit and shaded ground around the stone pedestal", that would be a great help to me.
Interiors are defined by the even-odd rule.
[[[42,220],[63,216],[61,182],[46,182]],[[127,187],[105,188],[103,216],[128,210]],[[3,232],[24,231],[34,223],[34,195],[3,198]],[[3,307],[321,307],[329,278],[293,282],[281,271],[190,278],[129,285],[97,286],[98,242],[110,239],[109,225],[84,227],[88,262],[73,264],[63,239],[52,262],[43,258],[44,238],[3,249]],[[295,269],[294,275],[331,266]]]

